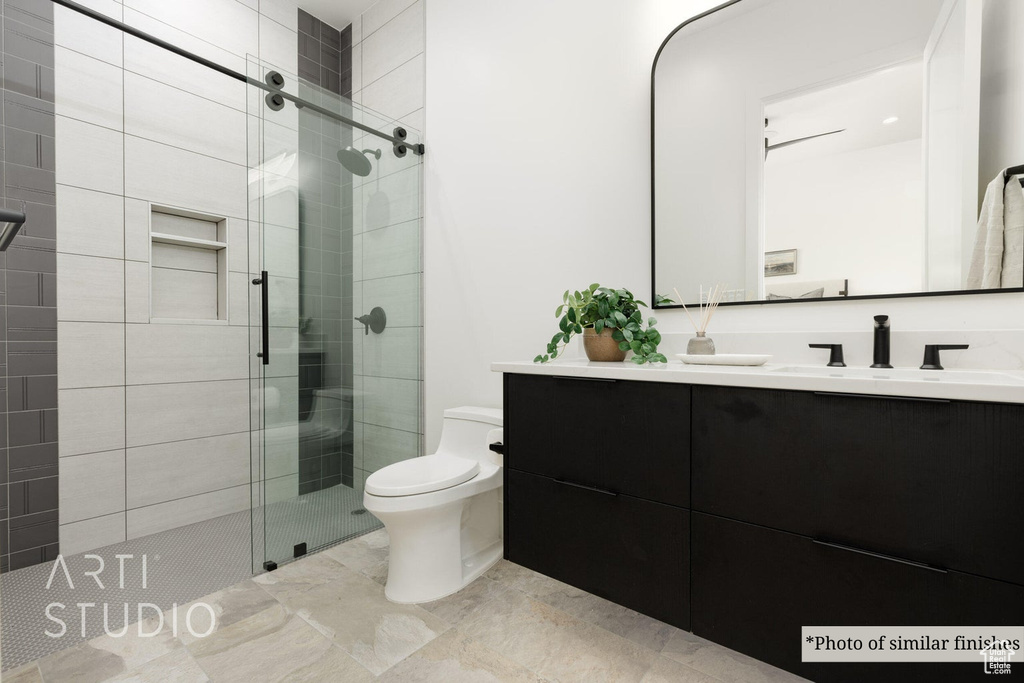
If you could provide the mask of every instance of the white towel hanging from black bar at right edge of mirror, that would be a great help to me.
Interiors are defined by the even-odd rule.
[[[1021,287],[1024,281],[1024,187],[1000,172],[985,188],[978,216],[969,290]]]

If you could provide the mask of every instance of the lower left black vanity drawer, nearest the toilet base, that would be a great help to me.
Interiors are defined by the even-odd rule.
[[[506,470],[508,560],[689,629],[689,511]]]

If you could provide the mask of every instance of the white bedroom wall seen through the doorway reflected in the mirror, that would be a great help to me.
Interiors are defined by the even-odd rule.
[[[767,279],[766,286],[848,280],[851,296],[923,291],[921,154],[918,138],[769,160],[765,251],[796,249],[797,274]]]

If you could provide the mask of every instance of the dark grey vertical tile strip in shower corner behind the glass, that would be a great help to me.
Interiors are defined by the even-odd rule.
[[[351,98],[352,28],[337,29],[298,10],[300,94],[342,111]],[[338,97],[333,97],[337,95]],[[332,101],[328,101],[332,100]],[[299,441],[299,494],[343,483],[353,485],[352,446],[352,174],[338,151],[352,130],[316,114],[299,115],[299,417],[309,420],[315,391],[341,400],[318,401],[317,424]],[[359,314],[359,313],[354,313]],[[330,407],[331,413],[324,415]],[[321,420],[319,418],[326,418]]]

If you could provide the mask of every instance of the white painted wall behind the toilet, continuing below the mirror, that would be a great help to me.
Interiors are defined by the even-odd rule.
[[[427,449],[441,411],[500,405],[499,359],[531,358],[561,292],[649,297],[650,63],[706,0],[430,0],[424,227]],[[501,30],[496,30],[500,27]],[[713,332],[1021,330],[1024,296],[721,309]],[[679,312],[658,316],[684,333]],[[898,342],[898,336],[894,337]]]

